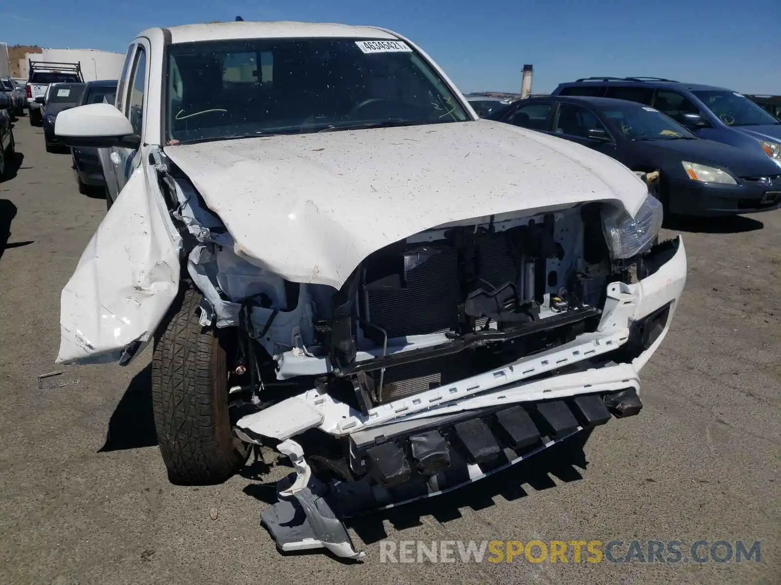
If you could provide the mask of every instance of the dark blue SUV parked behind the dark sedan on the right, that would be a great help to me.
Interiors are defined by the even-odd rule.
[[[637,101],[665,112],[698,137],[764,152],[781,168],[781,121],[733,90],[659,77],[585,77],[560,83],[553,95]]]

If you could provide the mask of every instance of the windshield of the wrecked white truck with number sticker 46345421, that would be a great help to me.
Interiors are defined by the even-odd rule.
[[[168,142],[469,119],[436,71],[402,41],[175,44],[167,79]]]

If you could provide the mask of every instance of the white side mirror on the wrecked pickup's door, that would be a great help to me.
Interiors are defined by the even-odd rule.
[[[57,115],[54,133],[69,147],[137,148],[141,137],[130,120],[109,104],[80,105]]]

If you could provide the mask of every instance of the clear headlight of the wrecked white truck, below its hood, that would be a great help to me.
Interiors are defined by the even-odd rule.
[[[647,252],[654,245],[662,228],[662,203],[649,194],[632,218],[623,208],[604,207],[602,229],[608,241],[610,255],[615,258],[631,258]]]

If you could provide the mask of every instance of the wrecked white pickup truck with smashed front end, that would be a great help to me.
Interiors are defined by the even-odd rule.
[[[62,112],[116,201],[62,291],[61,363],[153,342],[160,451],[212,484],[295,473],[284,551],[361,558],[342,519],[438,495],[642,408],[686,280],[628,168],[478,119],[388,30],[145,30],[116,105]],[[113,197],[112,197],[113,198]]]

